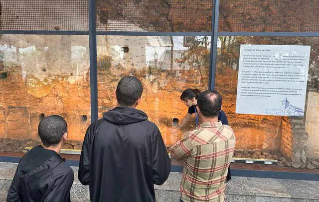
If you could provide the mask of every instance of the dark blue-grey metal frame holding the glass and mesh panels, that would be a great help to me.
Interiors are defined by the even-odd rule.
[[[11,30],[1,31],[0,34],[37,34],[37,35],[89,35],[90,51],[90,95],[91,95],[91,122],[98,119],[98,72],[97,72],[97,35],[122,36],[211,36],[210,63],[209,63],[209,89],[215,89],[217,42],[218,36],[277,36],[277,37],[319,37],[319,32],[219,32],[219,4],[220,0],[212,0],[212,25],[210,32],[128,32],[128,31],[96,31],[95,0],[89,0],[89,30],[88,31],[38,31],[38,30]],[[217,8],[217,9],[215,9]],[[9,160],[12,162],[12,160]],[[75,164],[77,164],[75,162]],[[175,170],[181,171],[180,166]],[[319,180],[318,174],[276,173],[271,171],[245,171],[234,169],[233,175],[246,177],[273,177],[286,179]]]

